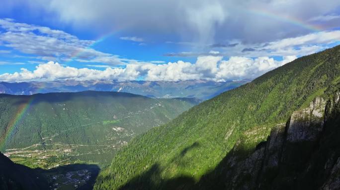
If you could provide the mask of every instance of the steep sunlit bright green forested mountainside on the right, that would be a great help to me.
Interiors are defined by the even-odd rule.
[[[339,60],[340,46],[304,56],[190,108],[169,123],[132,139],[113,157],[110,167],[100,172],[94,189],[191,189],[204,180],[203,176],[215,171],[217,176],[221,174],[222,180],[223,177],[228,179],[228,176],[223,176],[223,172],[230,172],[229,179],[233,179],[237,172],[223,170],[218,173],[215,169],[224,162],[238,163],[251,156],[256,146],[257,149],[265,146],[263,141],[266,141],[271,129],[288,121],[294,111],[309,107],[310,102],[317,97],[332,99],[332,95],[339,92]],[[338,117],[337,114],[335,116]],[[312,124],[311,127],[314,126]],[[339,126],[338,123],[330,125]],[[297,137],[308,133],[304,128],[299,130],[296,131]],[[336,143],[330,144],[339,150]],[[238,157],[234,157],[234,161],[224,160],[229,159],[228,155],[235,147],[240,150]],[[292,152],[295,151],[289,149],[283,152],[286,153],[283,157],[289,157]],[[335,160],[337,156],[339,154],[334,155]],[[286,175],[298,176],[303,173],[295,171],[294,167],[287,167],[286,170],[288,173],[284,169],[280,170],[280,183],[294,184],[291,181],[296,179],[286,178]],[[313,172],[308,174],[313,175]],[[323,172],[315,173],[318,174]],[[270,176],[270,173],[266,175]],[[247,172],[241,173],[241,176],[245,182],[251,181],[253,177]],[[233,185],[238,182],[243,184],[242,179],[236,179],[235,184],[228,180],[212,180],[211,183],[214,182],[225,185],[226,189],[233,189]],[[236,186],[235,189],[247,187]]]

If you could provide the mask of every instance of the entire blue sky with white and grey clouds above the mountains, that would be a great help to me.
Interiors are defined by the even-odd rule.
[[[239,80],[339,45],[339,0],[3,0],[0,81]]]

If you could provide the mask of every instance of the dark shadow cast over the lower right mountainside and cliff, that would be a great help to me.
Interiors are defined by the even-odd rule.
[[[338,190],[340,188],[340,103],[326,107],[324,127],[310,140],[291,141],[286,125],[275,126],[252,151],[235,147],[198,182],[190,176],[162,179],[153,165],[120,190]],[[314,124],[303,123],[312,129]],[[306,133],[308,134],[308,130]],[[184,148],[183,157],[198,143]],[[173,158],[175,160],[175,158]],[[173,161],[172,160],[172,161]]]

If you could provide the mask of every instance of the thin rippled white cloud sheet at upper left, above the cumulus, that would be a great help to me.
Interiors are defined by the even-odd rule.
[[[94,41],[80,40],[76,36],[48,27],[14,22],[13,19],[0,19],[0,43],[27,54],[34,54],[41,60],[77,60],[79,62],[125,65],[136,62],[118,55],[97,51],[90,46]],[[130,40],[142,39],[131,37]],[[0,53],[8,53],[0,50]]]

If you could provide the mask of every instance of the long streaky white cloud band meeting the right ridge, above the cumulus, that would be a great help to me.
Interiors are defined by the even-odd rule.
[[[326,48],[333,47],[335,43],[340,42],[340,30],[323,31],[309,33],[294,38],[284,38],[281,40],[245,44],[234,41],[236,46],[219,47],[218,50],[210,50],[207,52],[179,52],[167,53],[166,56],[288,56],[297,55],[304,56],[312,54]]]

